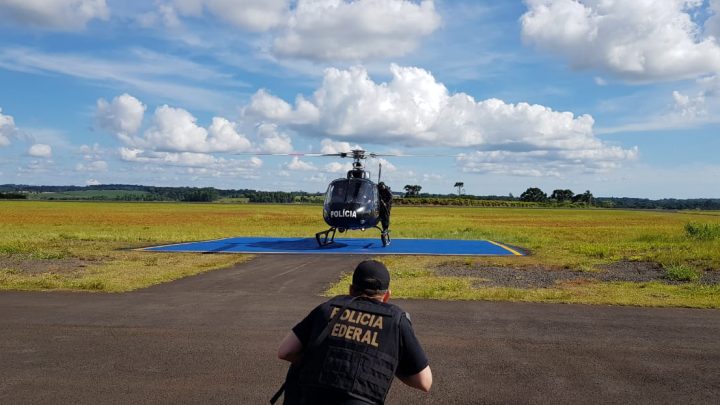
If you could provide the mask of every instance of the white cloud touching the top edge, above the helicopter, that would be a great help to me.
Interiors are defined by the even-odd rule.
[[[440,22],[430,0],[299,0],[273,51],[311,60],[401,56]]]

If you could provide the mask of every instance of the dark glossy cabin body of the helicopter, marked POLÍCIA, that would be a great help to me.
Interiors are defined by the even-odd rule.
[[[341,231],[376,226],[380,220],[377,186],[367,178],[333,180],[325,194],[323,218]]]

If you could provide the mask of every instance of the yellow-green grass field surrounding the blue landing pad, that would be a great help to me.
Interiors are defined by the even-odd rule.
[[[1,201],[0,289],[128,291],[248,258],[132,248],[230,236],[307,237],[324,228],[319,206]],[[697,281],[478,288],[472,277],[439,276],[433,270],[440,263],[455,262],[592,272],[628,260],[720,271],[717,229],[717,212],[396,207],[394,238],[490,239],[532,254],[383,260],[393,271],[398,297],[720,308],[720,287]],[[345,291],[346,283],[340,280],[329,293]]]

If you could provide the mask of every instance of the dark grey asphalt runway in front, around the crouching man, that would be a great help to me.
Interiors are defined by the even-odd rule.
[[[360,256],[264,255],[126,294],[0,292],[0,404],[259,404]],[[717,403],[720,311],[395,300],[434,374],[389,404]]]

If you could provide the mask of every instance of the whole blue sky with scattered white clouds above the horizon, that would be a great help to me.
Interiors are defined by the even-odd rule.
[[[720,197],[718,0],[0,0],[0,183]],[[253,156],[257,154],[257,156]]]

